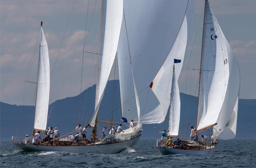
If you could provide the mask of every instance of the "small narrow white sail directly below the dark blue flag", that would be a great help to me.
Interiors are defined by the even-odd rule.
[[[175,71],[172,74],[172,90],[171,90],[171,103],[168,130],[169,134],[177,136],[179,133],[180,125],[180,91],[178,85],[178,78]]]

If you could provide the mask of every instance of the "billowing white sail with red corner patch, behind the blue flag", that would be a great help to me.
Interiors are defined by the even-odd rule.
[[[150,113],[146,114],[141,118],[141,122],[145,124],[150,123],[162,123],[167,114],[168,108],[170,106],[170,91],[172,87],[172,71],[173,71],[173,59],[181,60],[180,64],[175,66],[175,73],[177,79],[180,76],[180,71],[183,65],[184,55],[187,46],[188,39],[188,26],[186,15],[180,27],[178,36],[166,57],[163,65],[159,69],[155,78],[153,79],[150,87],[156,98],[159,101],[159,105]]]

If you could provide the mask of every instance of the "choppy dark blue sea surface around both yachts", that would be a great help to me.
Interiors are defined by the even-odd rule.
[[[256,139],[220,140],[207,156],[161,156],[154,139],[140,139],[133,148],[113,155],[24,152],[12,141],[1,141],[0,167],[256,167]]]

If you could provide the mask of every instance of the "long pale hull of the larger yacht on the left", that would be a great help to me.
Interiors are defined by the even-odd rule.
[[[121,152],[126,148],[132,148],[139,140],[140,136],[124,142],[106,144],[106,145],[85,145],[85,146],[44,146],[44,145],[32,145],[32,144],[13,144],[25,151],[60,151],[70,153],[86,153],[89,151],[99,151],[102,153],[115,154]]]

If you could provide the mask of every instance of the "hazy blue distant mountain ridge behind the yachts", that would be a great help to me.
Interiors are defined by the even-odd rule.
[[[87,123],[89,123],[93,111],[95,101],[95,88],[87,88],[81,94],[75,97],[67,97],[65,99],[56,100],[49,106],[49,112],[51,116],[49,118],[48,126],[58,127],[60,134],[66,134],[75,130],[78,124],[78,112],[80,112],[80,118],[83,116],[82,125],[84,126],[86,115],[88,114]],[[113,98],[114,95],[114,98]],[[86,99],[85,108],[84,101]],[[113,103],[114,100],[114,103]],[[181,100],[181,116],[180,116],[180,137],[182,136],[182,125],[183,136],[185,137],[187,126],[187,138],[190,135],[190,126],[195,124],[196,121],[196,108],[197,108],[197,97],[180,93]],[[112,108],[113,106],[113,108]],[[105,90],[104,97],[102,99],[99,109],[99,120],[109,121],[112,116],[112,109],[116,109],[113,112],[113,121],[121,122],[121,106],[120,92],[119,92],[119,81],[109,81]],[[83,114],[84,108],[84,114]],[[21,113],[22,110],[22,113]],[[18,137],[24,137],[26,134],[31,135],[33,130],[34,120],[34,106],[17,106],[10,105],[4,102],[0,104],[0,139],[11,139],[11,136],[15,135],[18,130]],[[143,133],[141,138],[160,138],[161,134],[156,131],[162,131],[167,128],[168,117],[161,124],[143,124]],[[188,125],[188,121],[190,121]],[[238,106],[238,120],[236,138],[256,138],[256,100],[239,100]],[[129,123],[128,123],[129,124]],[[98,135],[101,137],[102,128],[109,124],[100,123],[98,124]],[[128,128],[123,125],[123,129]],[[88,131],[87,137],[90,136],[91,130]]]

